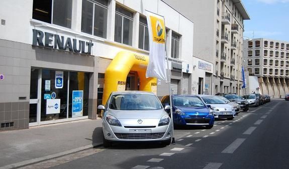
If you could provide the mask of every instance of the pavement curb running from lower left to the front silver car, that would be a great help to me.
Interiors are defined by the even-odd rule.
[[[76,153],[76,152],[79,152],[79,151],[83,151],[83,150],[99,147],[101,145],[103,145],[103,142],[93,143],[93,144],[90,144],[90,145],[74,148],[74,149],[63,151],[63,152],[59,152],[59,153],[56,153],[56,154],[47,155],[47,156],[43,156],[43,157],[39,157],[39,158],[29,159],[29,160],[26,160],[26,161],[21,161],[21,162],[9,164],[9,165],[1,166],[0,169],[19,168],[19,167],[23,167],[23,166],[39,163],[39,162],[42,162],[42,161],[46,161],[46,160],[49,160],[49,159],[58,158],[58,157],[65,156],[65,155],[68,155],[68,154]]]

